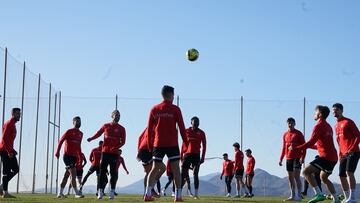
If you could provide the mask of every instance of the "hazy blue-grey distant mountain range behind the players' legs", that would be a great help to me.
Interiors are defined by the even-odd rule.
[[[302,179],[303,181],[303,179]],[[165,186],[167,182],[167,177],[161,178],[162,187]],[[193,183],[193,180],[191,180]],[[191,185],[193,189],[193,184]],[[167,189],[167,194],[171,194],[171,187]],[[322,186],[326,188],[325,185]],[[339,184],[335,184],[335,187],[338,192],[341,192],[341,187]],[[185,185],[183,193],[186,194]],[[236,192],[235,181],[232,184],[232,193],[233,195]],[[357,188],[360,188],[360,184],[357,185]],[[122,194],[142,194],[144,190],[143,179],[132,183],[125,187],[118,187],[116,191]],[[327,191],[327,189],[325,189]],[[39,191],[40,192],[40,191]],[[89,185],[83,188],[84,193],[95,193],[96,186]],[[200,188],[199,193],[201,195],[225,195],[225,183],[224,180],[220,180],[220,173],[212,173],[206,176],[200,177]],[[256,196],[288,196],[289,195],[289,185],[287,177],[280,178],[274,175],[269,174],[265,170],[256,169],[255,177],[253,180],[253,193]],[[308,196],[312,196],[314,193],[311,187],[308,190]],[[357,191],[357,196],[360,196],[360,190]]]

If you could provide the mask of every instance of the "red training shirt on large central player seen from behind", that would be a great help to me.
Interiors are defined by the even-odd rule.
[[[179,146],[176,124],[179,126],[183,142],[187,142],[180,108],[169,101],[163,101],[154,106],[150,111],[148,121],[148,135],[154,137],[154,144],[150,148]],[[149,145],[150,141],[148,138]]]

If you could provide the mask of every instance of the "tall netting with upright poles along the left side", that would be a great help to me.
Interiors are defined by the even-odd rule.
[[[0,63],[5,66],[5,51],[0,51]],[[49,121],[53,121],[54,112],[59,111],[59,106],[55,108],[55,94],[58,91],[52,88],[50,95],[50,84],[43,79],[39,80],[40,75],[32,73],[27,67],[24,69],[24,66],[24,63],[7,54],[6,94],[1,97],[2,104],[5,102],[5,109],[1,111],[4,112],[4,121],[11,118],[12,108],[22,108],[22,119],[16,124],[17,137],[14,143],[20,172],[10,182],[9,190],[45,192],[45,188],[49,188],[46,182],[50,181],[46,177],[51,173],[51,168],[47,167],[51,164],[48,160],[53,157],[50,154],[53,147],[50,145],[52,136],[49,136],[49,127],[53,125],[49,125]],[[5,75],[1,76],[3,91]],[[58,124],[57,122],[56,125]]]

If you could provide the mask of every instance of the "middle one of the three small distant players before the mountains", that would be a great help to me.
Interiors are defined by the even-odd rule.
[[[234,174],[236,178],[236,196],[237,198],[241,197],[242,191],[244,194],[248,194],[248,191],[245,187],[243,176],[244,176],[244,153],[240,150],[240,144],[235,142],[233,144],[235,151],[235,161],[234,161]]]

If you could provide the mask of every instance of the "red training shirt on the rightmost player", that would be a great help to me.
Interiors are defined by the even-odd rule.
[[[339,144],[340,157],[350,152],[359,152],[360,132],[354,121],[348,118],[337,120],[335,125],[336,140]]]

